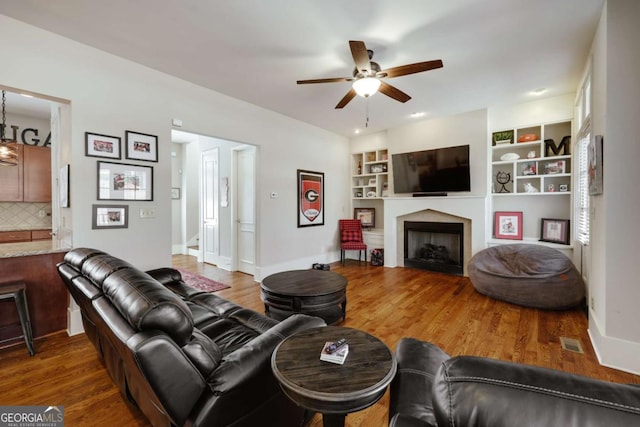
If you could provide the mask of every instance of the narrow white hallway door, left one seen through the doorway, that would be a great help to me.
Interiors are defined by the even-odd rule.
[[[202,258],[218,262],[218,149],[202,152]]]

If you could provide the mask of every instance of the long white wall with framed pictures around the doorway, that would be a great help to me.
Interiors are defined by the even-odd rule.
[[[254,105],[203,89],[63,37],[0,16],[3,50],[0,84],[69,100],[72,238],[147,269],[171,263],[171,120],[183,130],[259,147],[257,263],[265,271],[337,260],[337,219],[349,203],[346,138]],[[124,138],[125,130],[158,136],[159,161],[123,163],[154,167],[154,200],[127,202],[128,229],[92,230],[96,159],[84,155],[84,132]],[[322,155],[319,155],[322,153]],[[325,173],[325,226],[296,227],[296,169]],[[277,199],[269,193],[277,191]],[[121,202],[116,202],[121,203]],[[138,218],[155,207],[154,219]],[[69,216],[71,218],[71,216]],[[67,224],[68,225],[68,224]],[[333,254],[331,252],[334,252]]]

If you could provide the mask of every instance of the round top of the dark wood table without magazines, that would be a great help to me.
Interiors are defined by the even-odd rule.
[[[347,279],[331,271],[292,270],[267,276],[260,286],[274,294],[311,297],[342,292],[347,287]]]

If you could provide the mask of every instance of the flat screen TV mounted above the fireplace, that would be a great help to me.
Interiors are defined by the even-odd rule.
[[[468,145],[393,154],[391,159],[394,193],[471,191]]]

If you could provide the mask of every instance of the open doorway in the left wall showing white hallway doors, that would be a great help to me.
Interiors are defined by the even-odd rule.
[[[172,130],[174,254],[255,272],[255,153],[247,144]]]

